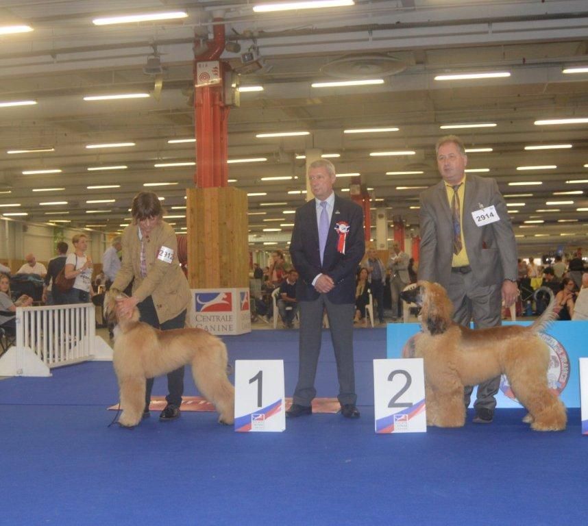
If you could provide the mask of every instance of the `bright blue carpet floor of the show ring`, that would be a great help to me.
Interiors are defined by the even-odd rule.
[[[282,358],[291,395],[295,331],[225,342],[231,360]],[[235,433],[194,412],[109,428],[117,385],[103,362],[0,381],[0,525],[585,524],[579,410],[561,433],[530,431],[523,410],[498,410],[491,425],[469,414],[461,429],[376,435],[371,360],[385,355],[384,329],[356,331],[355,349],[361,418],[314,414],[280,434]],[[317,388],[336,395],[328,339]],[[158,379],[154,395],[164,394]]]

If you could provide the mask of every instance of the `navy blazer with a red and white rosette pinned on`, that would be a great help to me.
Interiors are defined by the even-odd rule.
[[[336,223],[345,221],[350,227],[345,240],[345,254],[337,251],[339,234]],[[327,297],[332,303],[355,303],[355,275],[365,253],[363,210],[360,205],[335,195],[333,214],[327,236],[323,264],[319,252],[319,227],[315,199],[296,210],[290,242],[292,262],[299,273],[296,298],[313,301],[319,292],[313,287],[318,274],[326,274],[334,281]]]

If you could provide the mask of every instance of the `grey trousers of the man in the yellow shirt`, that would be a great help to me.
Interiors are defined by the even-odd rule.
[[[455,323],[469,327],[474,321],[476,329],[496,327],[502,323],[502,284],[487,287],[479,286],[473,272],[467,274],[451,274],[449,297],[453,303]],[[478,393],[474,402],[474,409],[489,409],[496,407],[494,398],[500,388],[500,376],[489,379],[478,385]],[[473,386],[466,386],[464,403],[469,405]]]

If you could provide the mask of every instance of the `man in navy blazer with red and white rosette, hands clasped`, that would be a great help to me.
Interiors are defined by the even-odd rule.
[[[294,219],[290,254],[299,273],[296,290],[300,312],[299,371],[293,404],[286,412],[289,418],[313,412],[311,403],[317,394],[315,376],[325,309],[339,377],[341,414],[347,418],[359,416],[353,364],[353,317],[355,275],[365,253],[363,210],[356,203],[334,194],[335,178],[335,168],[329,160],[320,159],[310,164],[308,180],[315,199],[298,208]],[[328,234],[321,254],[319,229],[323,209],[328,214]]]

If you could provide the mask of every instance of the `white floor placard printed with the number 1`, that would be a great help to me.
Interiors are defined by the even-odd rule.
[[[284,431],[284,361],[235,361],[235,431]]]

